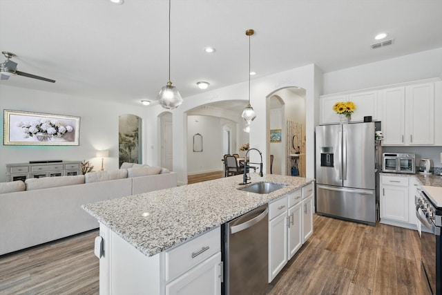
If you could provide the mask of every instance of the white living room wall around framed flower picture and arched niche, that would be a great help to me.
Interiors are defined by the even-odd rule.
[[[109,158],[104,159],[104,169],[118,168],[118,117],[131,113],[146,117],[146,107],[128,104],[113,104],[90,97],[75,97],[60,93],[47,93],[0,85],[0,109],[79,116],[79,146],[5,146],[0,145],[0,182],[6,181],[6,164],[27,163],[31,160],[90,160],[96,169],[101,168],[101,159],[95,158],[95,151],[108,149]],[[156,126],[155,126],[156,128]],[[143,142],[152,134],[143,125]],[[0,131],[3,138],[3,129]],[[150,142],[150,140],[149,140]],[[157,164],[148,158],[147,144],[142,146],[143,162]]]

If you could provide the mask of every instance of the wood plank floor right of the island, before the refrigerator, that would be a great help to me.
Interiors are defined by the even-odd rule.
[[[416,231],[314,216],[314,234],[273,280],[277,294],[426,294]]]

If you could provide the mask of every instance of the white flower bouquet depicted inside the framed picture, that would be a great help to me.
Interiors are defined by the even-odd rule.
[[[37,119],[33,122],[18,122],[17,127],[21,127],[23,137],[34,137],[37,135],[63,136],[66,132],[72,132],[72,126],[63,126],[59,120]]]

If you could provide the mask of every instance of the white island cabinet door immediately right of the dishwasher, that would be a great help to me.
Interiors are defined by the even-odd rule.
[[[269,222],[269,283],[287,264],[287,211]]]

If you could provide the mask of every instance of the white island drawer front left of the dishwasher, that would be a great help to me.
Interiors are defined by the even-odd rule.
[[[184,242],[182,245],[166,251],[166,281],[173,280],[180,274],[198,265],[202,261],[221,251],[221,229],[211,231]]]

